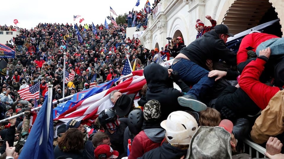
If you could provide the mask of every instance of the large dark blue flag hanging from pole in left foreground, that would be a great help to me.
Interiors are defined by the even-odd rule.
[[[43,102],[19,159],[54,159],[52,107],[47,105],[48,100],[51,97]]]

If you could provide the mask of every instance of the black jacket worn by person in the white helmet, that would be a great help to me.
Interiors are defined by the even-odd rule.
[[[155,148],[151,151],[144,153],[144,155],[138,159],[156,159],[156,158],[167,158],[167,159],[177,159],[181,158],[183,155],[186,156],[187,149],[181,150],[179,148],[173,147],[171,144],[163,143],[161,147]]]

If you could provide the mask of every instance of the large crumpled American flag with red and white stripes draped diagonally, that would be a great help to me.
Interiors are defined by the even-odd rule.
[[[109,100],[109,93],[113,90],[119,90],[123,94],[138,93],[146,84],[145,77],[143,76],[143,70],[132,72],[134,77],[131,77],[119,85],[104,90],[98,94],[92,95],[87,98],[78,100],[77,103],[73,103],[72,107],[68,108],[64,113],[57,116],[54,120],[60,120],[62,122],[68,122],[70,119],[83,120],[81,123],[90,124],[93,122],[102,110],[112,108],[114,104]],[[96,86],[98,87],[98,86]],[[96,87],[90,88],[95,89]],[[85,90],[89,92],[90,89]],[[74,95],[74,98],[76,94]],[[65,107],[69,105],[65,104]],[[55,108],[56,109],[56,108]]]

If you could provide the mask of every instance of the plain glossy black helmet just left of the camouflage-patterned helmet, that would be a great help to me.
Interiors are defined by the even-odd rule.
[[[129,113],[127,125],[132,134],[137,135],[142,130],[143,120],[142,110],[135,109]]]

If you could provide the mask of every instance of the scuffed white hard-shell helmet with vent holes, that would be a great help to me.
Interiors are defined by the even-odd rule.
[[[166,130],[167,141],[178,145],[189,145],[198,128],[195,118],[184,111],[170,113],[167,120],[161,122],[161,126]]]

